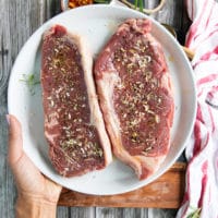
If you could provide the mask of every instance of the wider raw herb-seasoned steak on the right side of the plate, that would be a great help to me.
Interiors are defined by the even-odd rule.
[[[95,62],[95,80],[112,150],[140,180],[153,174],[170,147],[171,80],[152,23],[121,24]]]

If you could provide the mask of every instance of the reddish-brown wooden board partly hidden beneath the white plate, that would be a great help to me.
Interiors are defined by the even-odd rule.
[[[178,208],[184,194],[185,167],[183,162],[175,162],[150,184],[119,195],[86,195],[64,189],[59,205]]]

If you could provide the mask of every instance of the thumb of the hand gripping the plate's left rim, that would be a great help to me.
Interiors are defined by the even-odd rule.
[[[22,128],[21,123],[14,116],[7,114],[9,123],[9,153],[8,160],[10,166],[13,168],[15,162],[23,155],[23,140],[22,140]]]

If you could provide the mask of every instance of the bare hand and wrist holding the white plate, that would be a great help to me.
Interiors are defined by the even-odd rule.
[[[62,187],[43,175],[23,152],[22,128],[16,118],[8,114],[7,119],[9,122],[8,161],[19,193],[15,206],[16,217],[56,217]]]

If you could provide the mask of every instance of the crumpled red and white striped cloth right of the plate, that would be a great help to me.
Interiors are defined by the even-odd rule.
[[[186,145],[186,187],[177,218],[197,209],[201,218],[218,218],[218,2],[186,0],[186,7],[193,21],[186,47],[195,51],[197,116]]]

